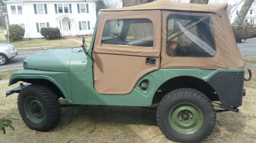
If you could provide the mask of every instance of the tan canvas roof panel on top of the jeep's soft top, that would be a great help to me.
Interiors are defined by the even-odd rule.
[[[182,10],[182,11],[199,11],[199,12],[213,12],[221,15],[223,9],[226,9],[228,4],[218,5],[202,5],[172,2],[169,0],[158,0],[144,5],[137,5],[132,7],[124,7],[118,9],[101,9],[100,11],[133,11],[133,10]]]

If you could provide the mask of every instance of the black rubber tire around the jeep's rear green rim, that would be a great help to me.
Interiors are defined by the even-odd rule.
[[[172,127],[175,125],[172,124],[171,126],[170,123],[173,122],[173,119],[169,119],[170,111],[177,105],[185,103],[196,105],[201,110],[201,115],[203,117],[203,120],[200,123],[201,126],[199,126],[200,128],[193,133],[187,134],[180,133],[177,129],[175,130]],[[182,113],[178,113],[178,115],[179,114],[182,116]],[[183,119],[179,119],[180,122],[183,122]],[[188,119],[186,118],[186,120]],[[170,140],[178,142],[200,142],[207,138],[207,136],[214,130],[216,124],[216,111],[214,106],[212,106],[211,101],[201,92],[188,88],[177,89],[166,94],[160,101],[157,108],[157,124],[166,138]]]

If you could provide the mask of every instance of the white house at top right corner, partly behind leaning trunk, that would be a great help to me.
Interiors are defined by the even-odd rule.
[[[230,22],[232,23],[234,19],[238,16],[245,0],[239,2],[235,7],[231,9],[231,13],[229,14]],[[245,19],[245,22],[248,22],[250,24],[256,24],[256,1],[253,2],[250,10],[248,11]]]

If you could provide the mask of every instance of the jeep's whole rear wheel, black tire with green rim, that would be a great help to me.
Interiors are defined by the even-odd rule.
[[[166,94],[157,108],[157,124],[170,140],[199,142],[216,124],[211,101],[194,89],[177,89]]]

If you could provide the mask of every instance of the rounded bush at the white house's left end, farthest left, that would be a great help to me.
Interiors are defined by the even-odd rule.
[[[20,41],[23,40],[25,31],[18,24],[12,24],[9,26],[9,35],[11,41]]]

